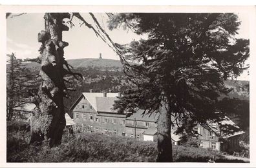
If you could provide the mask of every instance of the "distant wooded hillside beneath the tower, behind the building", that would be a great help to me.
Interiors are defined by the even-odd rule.
[[[80,72],[84,79],[76,80],[74,77],[66,77],[65,79],[72,82],[69,87],[76,89],[70,91],[70,98],[65,98],[65,106],[69,111],[70,106],[80,96],[82,92],[101,91],[124,91],[131,86],[129,80],[125,77],[122,71],[122,64],[118,60],[111,59],[73,59],[67,60],[74,71]],[[39,73],[40,64],[36,62],[29,62],[23,64],[28,70]],[[39,85],[40,77],[37,77],[36,84]],[[229,97],[242,98],[249,100],[248,86],[249,81],[228,80],[225,82],[228,88],[233,88],[229,93]],[[70,116],[72,117],[70,111]]]

